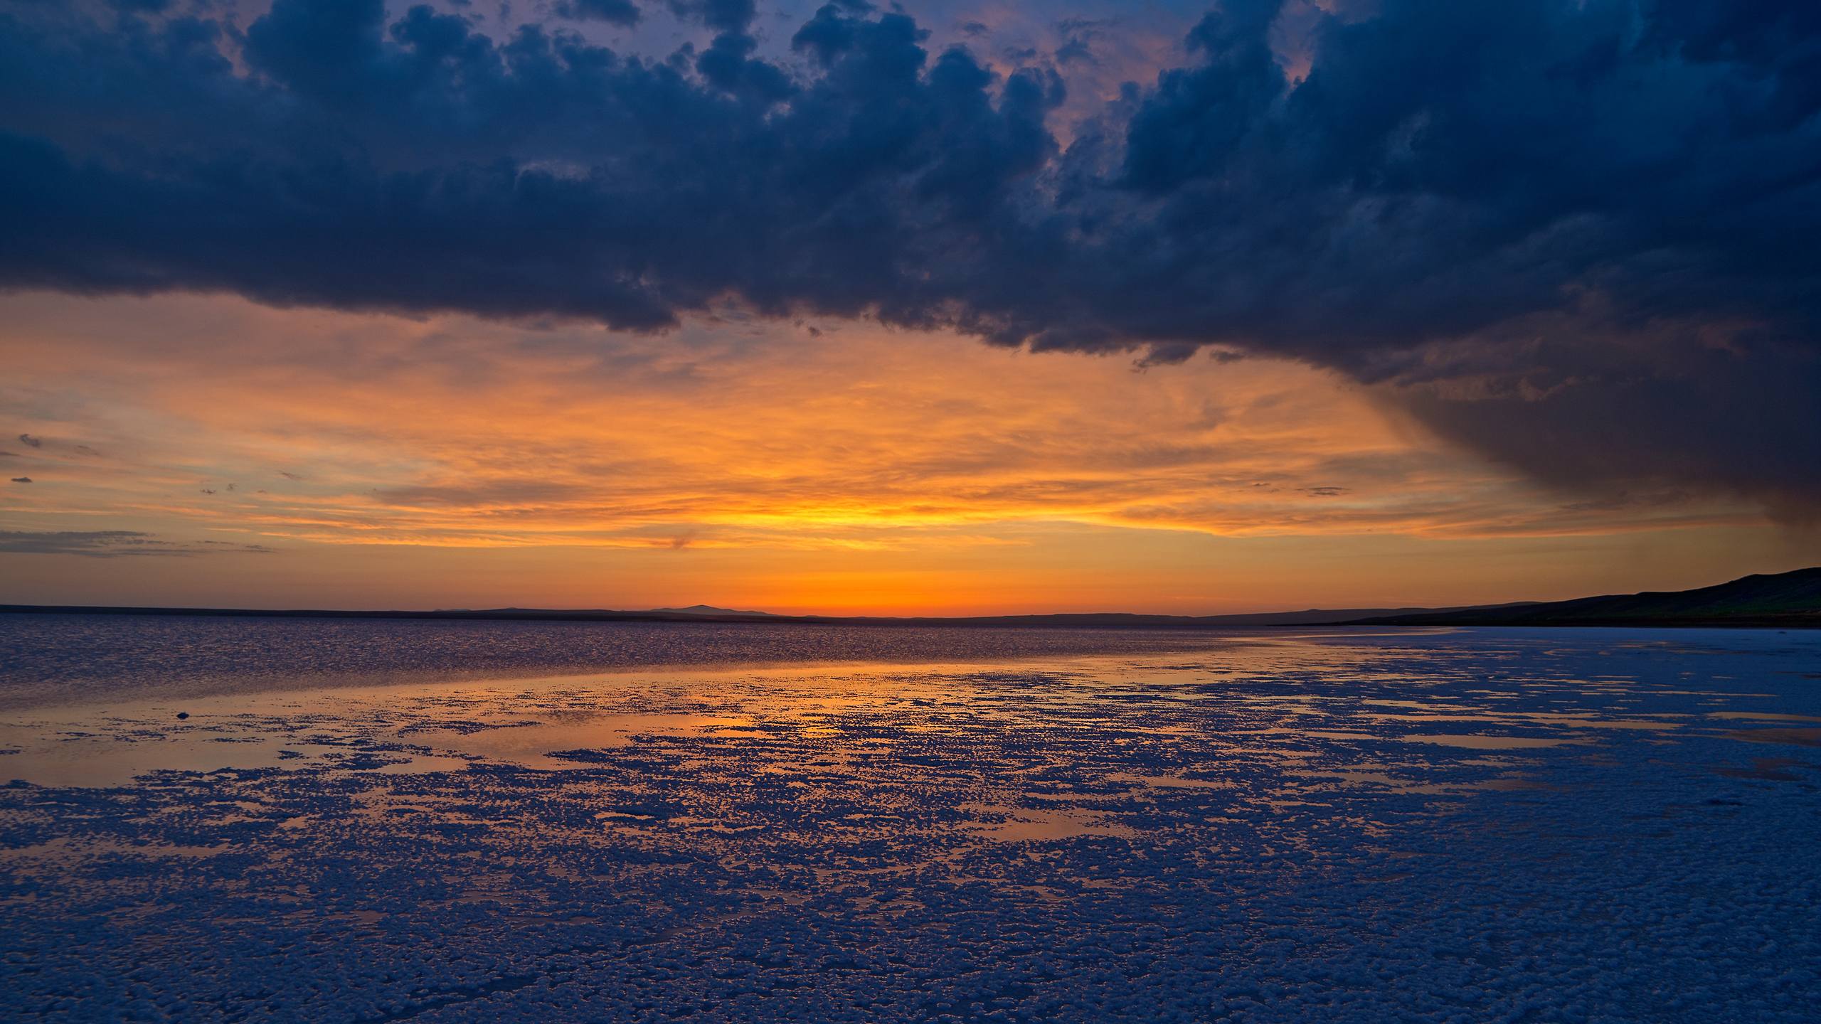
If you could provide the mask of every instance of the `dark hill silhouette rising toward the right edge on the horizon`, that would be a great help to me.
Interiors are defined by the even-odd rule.
[[[1734,625],[1821,629],[1821,567],[1743,576],[1697,590],[1369,616],[1349,625]]]

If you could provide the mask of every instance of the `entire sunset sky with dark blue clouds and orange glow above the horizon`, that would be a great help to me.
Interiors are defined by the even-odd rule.
[[[0,603],[1821,563],[1817,11],[0,0]]]

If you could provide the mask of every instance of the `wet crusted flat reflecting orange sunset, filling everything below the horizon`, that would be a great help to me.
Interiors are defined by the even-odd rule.
[[[31,641],[7,1017],[1812,1020],[1821,634],[459,625]]]

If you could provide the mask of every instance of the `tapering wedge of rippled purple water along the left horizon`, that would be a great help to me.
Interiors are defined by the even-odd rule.
[[[1218,634],[1169,630],[0,612],[0,709],[654,665],[1005,661],[1222,643]]]

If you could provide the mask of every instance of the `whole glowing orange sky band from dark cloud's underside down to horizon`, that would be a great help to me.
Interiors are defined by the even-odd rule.
[[[7,304],[0,394],[44,445],[11,459],[35,483],[5,492],[5,528],[271,548],[56,559],[107,561],[153,603],[1255,610],[1466,599],[1399,554],[1433,545],[1610,565],[1637,561],[1624,538],[1761,528],[1723,503],[1548,494],[1286,361],[1136,370],[861,323],[626,337],[219,297]],[[1338,585],[1317,552],[1364,561]],[[497,576],[477,590],[470,565]],[[1486,587],[1526,578],[1502,572]]]

